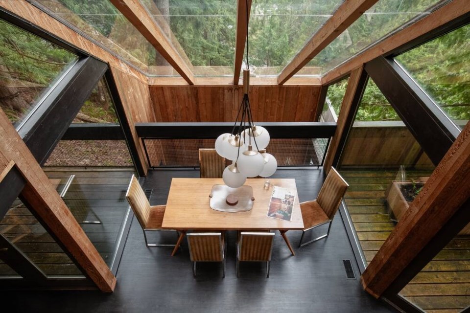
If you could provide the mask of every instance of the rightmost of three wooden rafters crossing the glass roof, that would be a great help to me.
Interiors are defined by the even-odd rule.
[[[341,4],[333,16],[313,35],[294,59],[282,69],[281,74],[278,76],[278,84],[284,84],[377,1],[348,0]]]

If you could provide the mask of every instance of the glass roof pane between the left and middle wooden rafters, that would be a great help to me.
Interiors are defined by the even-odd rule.
[[[236,1],[141,0],[196,76],[233,76]]]

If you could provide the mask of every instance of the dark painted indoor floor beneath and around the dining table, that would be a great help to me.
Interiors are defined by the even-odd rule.
[[[153,188],[152,204],[164,204],[171,177],[198,177],[198,171],[154,171],[145,181]],[[317,170],[278,170],[275,177],[295,178],[300,201],[314,199],[323,175]],[[167,234],[175,241],[176,235]],[[301,232],[287,233],[297,246]],[[193,279],[187,245],[176,256],[171,248],[146,248],[134,219],[112,294],[98,291],[2,292],[7,312],[395,312],[362,291],[359,279],[348,280],[343,259],[354,260],[339,214],[329,238],[296,248],[291,256],[279,233],[271,274],[264,264],[245,263],[235,276],[235,232],[229,232],[227,275],[216,263],[200,264]],[[354,270],[358,276],[355,263]]]

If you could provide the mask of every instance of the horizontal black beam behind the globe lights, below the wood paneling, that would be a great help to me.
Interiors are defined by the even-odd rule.
[[[336,131],[336,123],[295,122],[257,123],[268,130],[271,138],[329,138]],[[141,138],[215,139],[231,133],[234,123],[136,123]]]

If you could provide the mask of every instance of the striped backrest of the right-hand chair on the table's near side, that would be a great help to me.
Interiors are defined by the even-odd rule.
[[[238,260],[270,261],[274,233],[241,232],[238,243]]]

